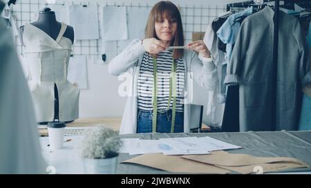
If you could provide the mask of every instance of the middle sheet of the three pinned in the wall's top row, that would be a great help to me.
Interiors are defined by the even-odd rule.
[[[103,8],[103,39],[104,41],[126,40],[127,22],[125,7],[104,7]]]

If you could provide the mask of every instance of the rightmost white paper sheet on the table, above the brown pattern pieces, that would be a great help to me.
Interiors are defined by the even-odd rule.
[[[201,147],[207,149],[208,151],[241,148],[241,146],[232,145],[230,143],[225,143],[221,140],[217,140],[217,139],[211,138],[209,136],[198,138],[198,144],[200,144]]]

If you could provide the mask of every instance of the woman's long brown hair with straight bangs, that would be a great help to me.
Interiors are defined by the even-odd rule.
[[[162,18],[163,15],[166,15],[167,19],[176,19],[177,23],[176,33],[170,45],[184,45],[184,33],[182,30],[180,12],[178,8],[170,1],[160,1],[156,3],[156,5],[151,9],[146,28],[144,30],[145,39],[158,39],[158,36],[156,36],[155,23],[156,20]],[[183,54],[183,49],[174,49],[173,59],[179,59]]]

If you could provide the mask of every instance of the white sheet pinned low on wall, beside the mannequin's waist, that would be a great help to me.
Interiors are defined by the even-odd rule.
[[[68,81],[73,83],[73,85],[77,85],[79,89],[87,89],[87,78],[86,56],[75,55],[70,57],[67,75]]]

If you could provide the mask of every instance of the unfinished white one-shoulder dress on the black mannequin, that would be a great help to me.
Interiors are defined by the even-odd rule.
[[[54,121],[55,84],[59,98],[59,121],[73,121],[79,116],[79,90],[67,80],[73,43],[63,36],[66,28],[67,25],[62,23],[56,40],[29,23],[23,30],[28,85],[38,122]]]

